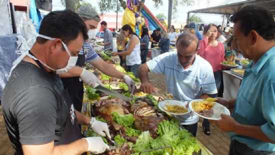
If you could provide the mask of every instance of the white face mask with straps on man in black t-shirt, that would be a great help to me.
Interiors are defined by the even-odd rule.
[[[49,36],[45,36],[45,35],[42,35],[42,34],[38,34],[39,37],[42,37],[42,38],[45,38],[45,39],[48,39],[48,40],[54,40],[55,38],[52,38],[52,37],[49,37]],[[62,70],[62,71],[67,71],[68,69],[72,68],[73,66],[75,66],[76,64],[76,61],[77,61],[77,58],[78,56],[71,56],[70,55],[70,52],[68,50],[68,47],[67,45],[62,41],[62,44],[63,44],[63,47],[65,48],[66,52],[68,53],[69,55],[69,59],[68,59],[68,63],[67,63],[67,66],[62,68],[62,69],[53,69],[51,68],[50,66],[48,66],[47,64],[45,64],[44,62],[38,60],[36,57],[32,56],[31,54],[27,53],[27,55],[35,60],[38,60],[40,61],[44,66],[46,66],[47,68],[49,68],[50,70]]]

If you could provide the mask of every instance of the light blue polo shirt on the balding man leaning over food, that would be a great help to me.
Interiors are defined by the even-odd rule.
[[[193,64],[187,69],[178,61],[176,51],[160,54],[146,64],[151,72],[165,75],[167,91],[176,100],[190,101],[203,93],[217,93],[212,66],[199,55],[195,56]],[[184,119],[180,119],[181,124],[193,124],[198,121],[198,116],[186,114]]]

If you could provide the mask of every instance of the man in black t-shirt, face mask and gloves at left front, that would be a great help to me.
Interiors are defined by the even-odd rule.
[[[87,28],[76,13],[53,11],[42,19],[34,45],[16,61],[2,95],[15,154],[101,153],[108,148],[101,137],[81,138],[78,123],[98,133],[107,125],[74,110],[55,71],[78,54],[85,39]]]

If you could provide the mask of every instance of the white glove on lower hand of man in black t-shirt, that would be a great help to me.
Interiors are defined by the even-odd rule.
[[[109,149],[109,146],[104,143],[100,136],[86,137],[88,143],[88,152],[95,154],[103,153],[106,149]]]

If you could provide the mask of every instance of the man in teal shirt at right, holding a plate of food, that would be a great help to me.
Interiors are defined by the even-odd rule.
[[[275,22],[270,11],[255,5],[243,7],[231,21],[238,48],[253,61],[237,98],[218,98],[234,107],[232,116],[211,122],[229,132],[229,154],[275,154]]]

